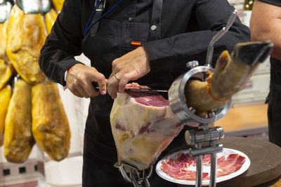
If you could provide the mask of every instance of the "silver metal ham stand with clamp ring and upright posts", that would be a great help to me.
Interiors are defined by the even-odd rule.
[[[211,68],[211,59],[213,57],[214,43],[221,39],[226,34],[228,29],[233,25],[233,22],[237,16],[237,11],[231,13],[230,18],[218,34],[216,34],[211,42],[209,43],[207,51],[207,60],[204,66],[198,66],[197,61],[188,62],[187,67],[191,68],[186,74],[183,74],[172,83],[169,89],[169,104],[171,110],[176,114],[179,120],[186,124],[200,123],[198,130],[189,130],[185,132],[185,141],[190,148],[189,153],[191,156],[196,156],[196,183],[195,186],[202,186],[202,155],[211,155],[211,172],[209,186],[216,186],[216,153],[223,151],[222,145],[217,145],[219,139],[223,139],[223,128],[222,127],[209,127],[208,124],[214,123],[220,120],[226,115],[230,109],[231,99],[228,100],[226,106],[223,109],[216,109],[210,111],[206,117],[200,117],[195,114],[195,109],[188,107],[185,98],[185,85],[188,83],[190,78],[201,77],[203,81],[206,81],[207,71],[214,72]]]

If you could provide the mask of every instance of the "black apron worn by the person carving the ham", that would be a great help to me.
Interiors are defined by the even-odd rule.
[[[162,2],[163,0],[153,1],[151,23],[103,19],[98,32],[91,28],[82,43],[82,50],[91,60],[91,66],[108,78],[112,72],[112,61],[138,47],[132,46],[131,41],[143,43],[160,39]],[[152,88],[169,89],[173,81],[172,77],[166,76],[166,72],[156,70],[136,82]],[[113,166],[117,162],[117,151],[109,118],[112,104],[113,100],[109,95],[91,98],[84,135],[83,187],[133,186],[124,181],[119,170]],[[185,144],[184,131],[163,151],[159,159],[171,148],[181,144]],[[152,187],[176,186],[157,176],[155,169],[149,181]]]

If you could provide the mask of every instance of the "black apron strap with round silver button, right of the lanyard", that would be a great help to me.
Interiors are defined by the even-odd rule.
[[[149,40],[161,38],[161,15],[163,0],[153,0]]]

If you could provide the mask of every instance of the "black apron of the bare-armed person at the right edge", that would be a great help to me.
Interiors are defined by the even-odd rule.
[[[281,147],[281,61],[270,57],[270,65],[268,134],[269,141]]]

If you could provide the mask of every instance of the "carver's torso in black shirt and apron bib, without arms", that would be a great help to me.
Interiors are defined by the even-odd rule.
[[[106,1],[105,11],[103,13],[106,13],[117,2]],[[91,65],[105,74],[106,78],[110,76],[112,61],[115,58],[121,57],[131,50],[138,48],[138,45],[133,43],[134,41],[142,44],[151,40],[165,39],[169,36],[185,33],[187,29],[193,29],[195,27],[195,18],[192,18],[193,22],[190,23],[190,16],[194,8],[192,1],[164,1],[162,11],[158,13],[161,20],[157,23],[159,24],[157,25],[157,29],[153,31],[157,33],[157,37],[151,36],[151,26],[155,25],[151,20],[153,6],[152,0],[124,0],[110,11],[105,18],[100,20],[98,32],[93,34],[91,33],[93,29],[89,29],[82,43],[82,51],[91,60]],[[86,28],[87,22],[93,21],[89,20],[91,15],[89,9],[93,10],[93,7],[93,1],[91,3],[84,1],[82,12],[85,9],[85,13],[82,15],[82,29]],[[81,32],[84,32],[84,30]],[[150,74],[155,76],[151,77]],[[164,81],[160,78],[161,75],[164,76],[163,72],[151,72],[150,74],[146,76],[147,78],[139,80],[140,83],[147,84],[147,81],[143,81],[145,79],[150,82],[152,80],[154,82]],[[171,85],[170,83],[174,78],[176,77],[171,77],[171,81],[167,85]]]

